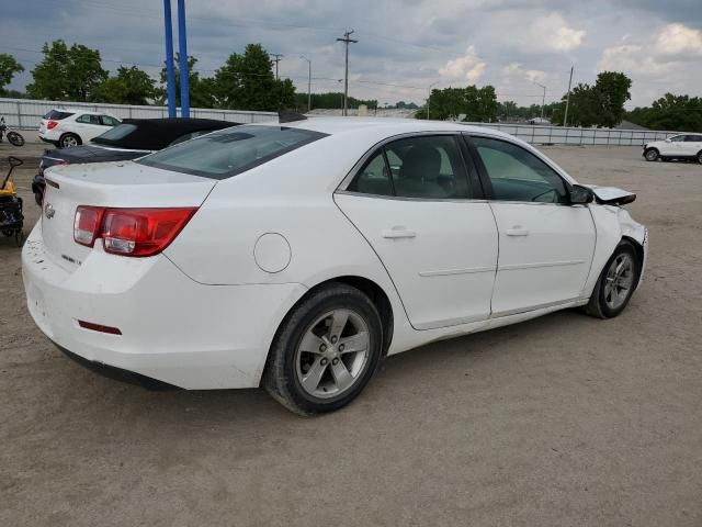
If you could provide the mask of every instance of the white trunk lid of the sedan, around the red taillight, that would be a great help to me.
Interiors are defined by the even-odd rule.
[[[110,208],[200,206],[215,180],[146,167],[133,161],[65,165],[46,170],[42,233],[46,253],[72,271],[90,255],[73,240],[79,205]],[[98,244],[97,244],[98,245]]]

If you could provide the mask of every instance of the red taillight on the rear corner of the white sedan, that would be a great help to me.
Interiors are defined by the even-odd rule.
[[[92,247],[102,238],[105,253],[152,256],[178,236],[197,209],[104,209],[81,205],[76,210],[73,239]]]

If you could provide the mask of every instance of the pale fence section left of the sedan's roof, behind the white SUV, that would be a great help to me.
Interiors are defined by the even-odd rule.
[[[105,112],[120,119],[148,119],[167,117],[167,106],[140,106],[127,104],[100,104],[87,102],[57,102],[36,101],[30,99],[3,99],[0,98],[0,115],[11,127],[36,130],[42,116],[54,108],[76,108],[91,112]],[[213,110],[193,108],[190,110],[192,117],[218,119],[235,123],[260,123],[278,120],[273,112],[242,112],[238,110]]]

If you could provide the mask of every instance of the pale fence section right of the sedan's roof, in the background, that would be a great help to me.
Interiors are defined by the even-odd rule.
[[[576,128],[508,123],[466,124],[499,130],[532,145],[642,146],[644,143],[665,139],[678,133],[660,130]]]

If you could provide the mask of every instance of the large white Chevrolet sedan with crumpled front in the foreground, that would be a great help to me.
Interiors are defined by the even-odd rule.
[[[301,414],[349,403],[386,355],[616,316],[647,254],[634,194],[444,122],[245,125],[46,182],[22,264],[48,338],[111,375],[262,385]]]

